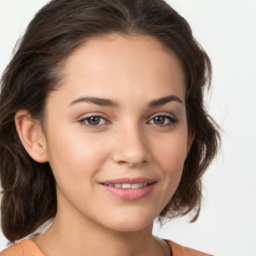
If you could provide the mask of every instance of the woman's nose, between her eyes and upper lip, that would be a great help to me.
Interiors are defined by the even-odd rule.
[[[148,139],[138,127],[121,128],[115,136],[112,159],[116,163],[133,167],[151,161]]]

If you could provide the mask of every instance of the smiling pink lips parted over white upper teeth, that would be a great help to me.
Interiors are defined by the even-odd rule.
[[[100,183],[100,186],[119,199],[134,201],[148,195],[155,183],[155,180],[148,178],[115,179]]]

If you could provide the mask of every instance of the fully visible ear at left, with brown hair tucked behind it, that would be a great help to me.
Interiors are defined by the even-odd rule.
[[[27,153],[37,162],[46,162],[47,150],[40,123],[21,109],[15,114],[16,130]]]

